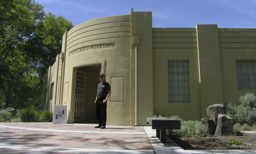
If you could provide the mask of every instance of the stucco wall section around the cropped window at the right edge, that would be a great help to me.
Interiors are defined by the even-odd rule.
[[[223,83],[223,102],[239,105],[239,97],[256,88],[237,87],[236,60],[256,59],[256,29],[219,28],[221,74]]]

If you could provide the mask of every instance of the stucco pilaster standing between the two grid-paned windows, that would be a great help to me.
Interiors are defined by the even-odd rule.
[[[206,118],[208,106],[223,104],[218,26],[217,24],[198,24],[196,29],[201,115],[202,118]]]

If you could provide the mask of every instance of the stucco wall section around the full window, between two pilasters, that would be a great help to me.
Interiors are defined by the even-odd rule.
[[[156,114],[167,117],[179,115],[182,119],[201,117],[196,32],[196,28],[153,28],[153,98]],[[168,60],[188,60],[190,103],[169,103]]]

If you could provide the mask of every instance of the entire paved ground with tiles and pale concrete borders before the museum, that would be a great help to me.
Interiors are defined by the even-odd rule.
[[[183,150],[160,143],[150,126],[0,123],[0,153],[256,153],[256,150]]]

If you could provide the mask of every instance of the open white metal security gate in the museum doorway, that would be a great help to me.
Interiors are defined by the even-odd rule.
[[[74,121],[84,120],[86,73],[75,71]]]

